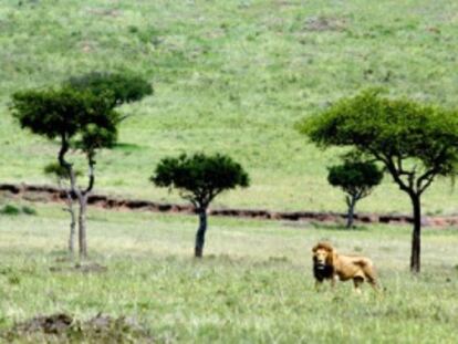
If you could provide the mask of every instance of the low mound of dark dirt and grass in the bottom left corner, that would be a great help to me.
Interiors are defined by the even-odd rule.
[[[15,324],[3,336],[21,343],[153,343],[152,335],[134,319],[102,313],[79,321],[65,313],[39,315]]]

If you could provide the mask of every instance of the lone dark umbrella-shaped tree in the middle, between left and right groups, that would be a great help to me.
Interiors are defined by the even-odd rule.
[[[207,209],[216,196],[236,187],[248,187],[249,177],[243,168],[223,155],[195,154],[164,158],[150,180],[158,187],[178,189],[189,200],[199,216],[195,257],[201,258],[207,231]]]

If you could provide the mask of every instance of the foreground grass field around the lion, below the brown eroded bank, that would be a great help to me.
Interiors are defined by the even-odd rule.
[[[405,227],[214,218],[206,257],[196,261],[194,217],[92,209],[89,263],[107,271],[82,273],[70,269],[66,226],[55,206],[0,216],[0,330],[39,314],[84,321],[103,312],[136,319],[158,343],[456,342],[456,230],[425,230],[424,271],[414,278]],[[369,256],[385,291],[364,285],[356,295],[341,283],[316,293],[310,250],[318,240]]]

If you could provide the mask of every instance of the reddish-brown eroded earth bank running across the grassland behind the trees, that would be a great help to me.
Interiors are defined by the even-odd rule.
[[[64,201],[65,192],[55,186],[27,185],[27,184],[0,184],[0,194],[10,194],[29,201]],[[92,194],[87,204],[105,209],[146,210],[155,212],[181,212],[194,213],[191,206],[178,204],[165,204],[149,200],[122,199],[101,194]],[[320,211],[270,211],[264,209],[210,209],[211,216],[239,217],[264,220],[287,221],[319,221],[339,222],[346,218],[345,213]],[[356,213],[355,220],[362,223],[412,223],[413,218],[407,215],[377,215]],[[446,227],[458,226],[458,216],[424,217],[424,226]]]

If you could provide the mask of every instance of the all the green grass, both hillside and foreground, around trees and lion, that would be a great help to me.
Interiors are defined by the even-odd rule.
[[[58,150],[13,122],[13,92],[128,69],[156,93],[121,108],[135,116],[98,156],[96,191],[176,201],[148,183],[159,159],[220,152],[252,186],[215,207],[342,211],[325,180],[339,152],[308,144],[294,123],[366,86],[457,106],[457,11],[454,0],[0,0],[0,180],[48,181],[41,171]],[[449,181],[437,180],[424,211],[455,213],[457,204]],[[407,227],[210,218],[206,258],[195,261],[196,218],[91,209],[90,260],[108,270],[82,274],[50,270],[72,265],[66,215],[12,205],[22,210],[0,215],[1,330],[39,314],[103,312],[136,317],[159,343],[456,342],[454,229],[424,230],[415,278]],[[358,209],[409,205],[387,178]],[[369,256],[385,292],[357,296],[342,283],[316,293],[318,240]]]

